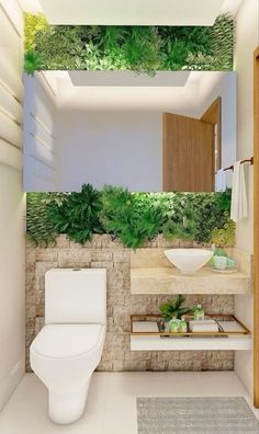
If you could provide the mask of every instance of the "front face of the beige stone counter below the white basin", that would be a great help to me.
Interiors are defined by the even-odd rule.
[[[183,275],[176,267],[135,267],[131,270],[132,294],[248,294],[251,278],[244,272],[215,273],[203,267]]]

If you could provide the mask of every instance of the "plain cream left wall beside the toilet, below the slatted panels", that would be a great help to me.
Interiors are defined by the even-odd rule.
[[[21,171],[0,163],[0,409],[24,373],[24,210]]]

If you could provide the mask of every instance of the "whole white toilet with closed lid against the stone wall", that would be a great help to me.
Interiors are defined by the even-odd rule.
[[[106,270],[56,269],[45,276],[45,326],[30,349],[31,366],[48,388],[50,419],[83,413],[106,328]]]

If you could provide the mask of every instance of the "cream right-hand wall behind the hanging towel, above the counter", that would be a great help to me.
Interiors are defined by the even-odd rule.
[[[254,50],[259,45],[258,0],[246,0],[237,18],[237,155],[250,158],[254,146]],[[249,218],[237,226],[237,244],[252,252],[252,168],[246,165],[249,192]]]

